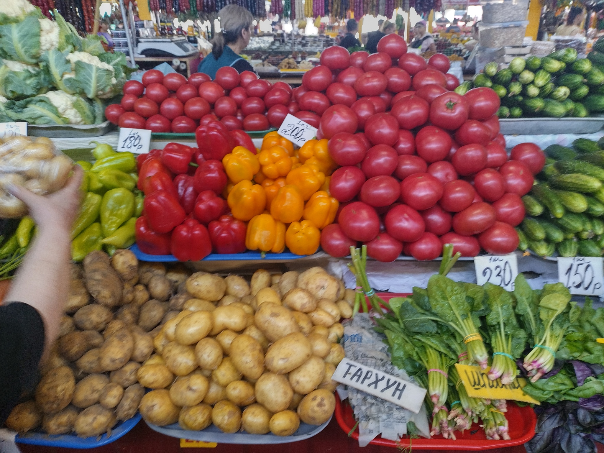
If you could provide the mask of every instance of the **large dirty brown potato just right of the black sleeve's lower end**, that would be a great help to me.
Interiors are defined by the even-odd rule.
[[[76,377],[69,367],[48,371],[36,387],[36,404],[45,414],[54,414],[67,407],[76,390]]]

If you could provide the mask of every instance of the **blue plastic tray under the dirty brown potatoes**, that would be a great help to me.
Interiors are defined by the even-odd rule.
[[[44,432],[28,432],[17,434],[14,438],[16,443],[27,443],[29,445],[43,445],[47,447],[63,448],[95,448],[120,439],[126,432],[134,428],[141,420],[141,414],[137,413],[132,419],[120,422],[111,429],[111,435],[103,434],[100,437],[77,437],[75,434],[50,435]]]

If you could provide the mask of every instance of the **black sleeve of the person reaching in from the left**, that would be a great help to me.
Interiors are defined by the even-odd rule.
[[[44,349],[44,323],[22,302],[0,306],[0,426],[24,391],[33,390]]]

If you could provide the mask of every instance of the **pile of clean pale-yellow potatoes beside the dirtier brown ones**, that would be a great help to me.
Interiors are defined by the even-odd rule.
[[[163,275],[162,266],[147,272]],[[155,354],[137,371],[148,423],[199,431],[292,435],[335,408],[331,377],[344,358],[339,320],[354,292],[323,268],[299,274],[259,269],[244,278],[196,272],[183,278]],[[168,318],[168,319],[166,319]]]

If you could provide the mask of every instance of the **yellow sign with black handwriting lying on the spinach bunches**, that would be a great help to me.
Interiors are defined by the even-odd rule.
[[[455,368],[466,388],[467,395],[472,398],[511,399],[540,404],[522,391],[522,387],[527,385],[527,381],[523,377],[516,377],[511,384],[503,385],[501,379],[491,381],[487,377],[490,367],[481,370],[480,367],[472,365],[455,364]]]

